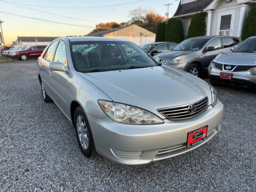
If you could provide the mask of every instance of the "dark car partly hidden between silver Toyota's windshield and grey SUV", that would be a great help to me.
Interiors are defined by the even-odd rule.
[[[177,45],[178,44],[174,42],[156,42],[142,45],[141,48],[151,56],[154,56],[165,51],[173,50]]]

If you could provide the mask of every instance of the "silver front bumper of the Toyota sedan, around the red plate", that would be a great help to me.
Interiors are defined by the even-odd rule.
[[[189,119],[163,124],[127,125],[116,123],[109,117],[98,119],[87,115],[97,152],[126,165],[147,164],[193,150],[209,141],[221,129],[223,105],[218,101],[202,114]],[[208,125],[207,137],[192,147],[186,147],[187,133]]]

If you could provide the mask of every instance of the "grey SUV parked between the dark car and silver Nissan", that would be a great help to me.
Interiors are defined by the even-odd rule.
[[[161,64],[182,69],[195,76],[205,73],[211,61],[220,53],[241,42],[238,37],[202,36],[186,39],[173,51],[156,55]]]

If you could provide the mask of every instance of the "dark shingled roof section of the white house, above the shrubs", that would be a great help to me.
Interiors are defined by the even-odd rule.
[[[203,11],[211,2],[212,0],[197,0],[186,4],[180,3],[173,17]]]

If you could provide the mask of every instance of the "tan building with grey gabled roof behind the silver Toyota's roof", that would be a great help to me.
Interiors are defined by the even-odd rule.
[[[156,34],[137,25],[129,25],[109,30],[103,30],[96,33],[88,34],[86,36],[125,39],[137,45],[153,43],[155,42],[156,38]]]

